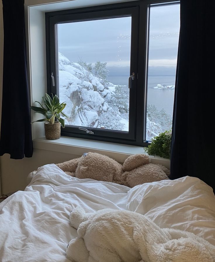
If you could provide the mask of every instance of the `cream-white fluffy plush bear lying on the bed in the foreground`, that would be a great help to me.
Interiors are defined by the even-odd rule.
[[[147,217],[126,210],[70,213],[78,237],[67,246],[73,262],[213,262],[215,247],[193,233],[161,229]]]

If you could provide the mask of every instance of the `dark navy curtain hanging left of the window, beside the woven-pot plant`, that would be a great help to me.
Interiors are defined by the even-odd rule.
[[[4,63],[0,155],[33,153],[27,83],[24,0],[2,0]]]

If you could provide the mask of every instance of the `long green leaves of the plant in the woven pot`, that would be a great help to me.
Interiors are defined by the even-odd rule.
[[[42,99],[44,101],[44,104],[41,104],[40,102],[35,101],[35,103],[38,103],[41,107],[32,106],[30,108],[34,110],[36,113],[44,115],[45,118],[39,119],[34,122],[48,121],[49,124],[54,124],[55,119],[57,119],[57,121],[59,121],[61,125],[63,125],[63,128],[64,128],[65,121],[63,118],[61,118],[61,116],[68,117],[62,112],[66,106],[66,103],[63,102],[60,104],[59,98],[57,97],[57,95],[55,96],[52,95],[52,98],[51,98],[48,94],[46,94],[45,96],[42,97]]]

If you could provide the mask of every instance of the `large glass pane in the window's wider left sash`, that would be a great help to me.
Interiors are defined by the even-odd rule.
[[[131,17],[58,24],[66,125],[129,131]]]

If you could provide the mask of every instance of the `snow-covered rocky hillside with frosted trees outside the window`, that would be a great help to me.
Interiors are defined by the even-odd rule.
[[[59,53],[59,98],[66,102],[66,125],[129,130],[129,91],[107,80],[106,63],[93,66],[70,62]],[[171,129],[172,117],[164,109],[147,105],[146,139]]]

